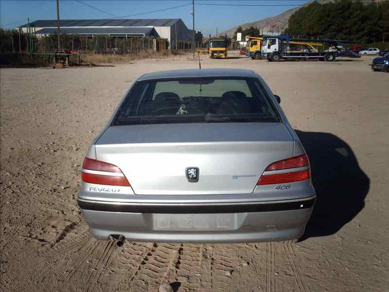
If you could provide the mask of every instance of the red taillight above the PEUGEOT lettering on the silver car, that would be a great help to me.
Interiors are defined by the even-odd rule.
[[[81,178],[84,183],[131,186],[122,170],[110,163],[85,158]]]

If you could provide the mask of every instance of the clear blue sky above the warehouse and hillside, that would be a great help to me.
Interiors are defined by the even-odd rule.
[[[191,0],[59,0],[61,19],[105,19],[191,4]],[[236,25],[276,16],[307,0],[195,0],[195,30],[214,35]],[[201,5],[208,4],[208,5]],[[209,5],[216,4],[216,5]],[[224,6],[224,5],[231,6]],[[221,6],[220,6],[221,5]],[[235,6],[233,6],[235,5]],[[251,6],[243,6],[251,5]],[[270,5],[270,6],[253,6]],[[106,12],[106,13],[104,13]],[[131,18],[181,18],[192,29],[192,5]],[[11,29],[38,19],[56,19],[55,0],[0,0],[0,26]],[[14,22],[18,23],[12,24]]]

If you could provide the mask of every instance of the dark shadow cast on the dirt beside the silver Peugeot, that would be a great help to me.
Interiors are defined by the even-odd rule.
[[[351,147],[331,133],[296,130],[311,163],[317,201],[300,241],[333,235],[364,208],[370,179]]]

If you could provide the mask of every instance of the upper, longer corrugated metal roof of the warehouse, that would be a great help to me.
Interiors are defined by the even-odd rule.
[[[62,19],[61,27],[73,26],[172,26],[179,18],[154,19]],[[57,20],[36,20],[35,27],[56,27]],[[27,27],[27,24],[21,27]]]

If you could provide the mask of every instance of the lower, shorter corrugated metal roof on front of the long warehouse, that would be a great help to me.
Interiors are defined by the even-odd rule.
[[[38,35],[51,35],[57,32],[56,28],[44,28],[36,31]],[[78,35],[144,35],[157,36],[153,27],[70,27],[61,28],[61,34]]]

